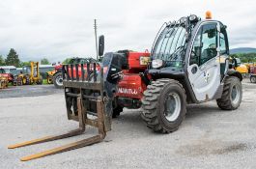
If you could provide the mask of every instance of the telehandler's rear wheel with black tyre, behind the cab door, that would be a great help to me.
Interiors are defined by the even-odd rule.
[[[236,89],[235,89],[236,88]],[[238,90],[237,95],[233,96],[233,90]],[[235,99],[233,99],[235,97]],[[236,76],[229,76],[225,79],[222,96],[216,99],[217,105],[222,110],[235,110],[242,101],[242,83]]]

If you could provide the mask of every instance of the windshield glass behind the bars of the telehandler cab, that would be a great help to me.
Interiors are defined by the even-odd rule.
[[[182,61],[176,53],[185,47],[185,27],[182,25],[168,25],[160,33],[152,53],[153,59],[169,62]]]

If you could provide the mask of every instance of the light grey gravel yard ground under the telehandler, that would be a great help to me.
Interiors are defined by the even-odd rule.
[[[33,86],[39,95],[51,86]],[[85,134],[16,150],[16,142],[77,127],[68,121],[62,92],[0,99],[0,168],[256,168],[256,84],[243,82],[242,105],[221,111],[215,101],[189,105],[183,125],[170,134],[145,127],[139,111],[124,110],[100,144],[21,162],[19,157],[76,141]],[[2,94],[0,94],[1,96]]]

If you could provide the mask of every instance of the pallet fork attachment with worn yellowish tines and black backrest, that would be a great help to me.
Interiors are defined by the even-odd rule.
[[[87,71],[85,70],[85,68]],[[87,65],[76,64],[63,66],[63,82],[68,119],[79,122],[79,127],[77,129],[71,130],[70,132],[61,135],[46,136],[43,138],[14,144],[9,146],[8,148],[15,149],[19,147],[25,147],[29,145],[79,135],[85,131],[86,125],[98,127],[99,133],[96,136],[73,142],[61,147],[47,150],[38,154],[21,157],[21,161],[27,161],[46,155],[54,155],[62,152],[67,152],[73,149],[78,149],[81,147],[99,143],[104,139],[106,131],[110,130],[111,118],[109,118],[109,116],[105,113],[105,105],[109,99],[107,99],[106,96],[103,96],[103,69],[102,67],[100,68],[100,71],[99,69],[97,69],[98,68],[96,63],[91,63]],[[97,81],[97,71],[98,74],[100,74],[101,76],[100,81]],[[85,72],[87,73],[85,74]],[[93,77],[93,79],[90,79],[90,77]],[[85,95],[88,94],[88,91],[91,95]],[[98,95],[95,96],[95,93],[97,93]],[[92,112],[91,110],[89,111],[89,108],[86,106],[92,104],[92,102],[96,102],[96,112]],[[97,118],[90,119],[87,115],[93,115]]]

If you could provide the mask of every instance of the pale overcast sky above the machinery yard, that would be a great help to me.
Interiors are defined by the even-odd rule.
[[[105,51],[151,49],[164,21],[188,14],[228,26],[231,48],[256,47],[254,0],[1,0],[0,54],[14,48],[22,61],[95,57],[94,18]]]

